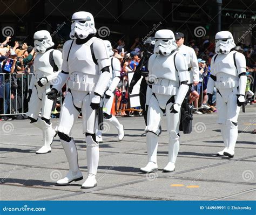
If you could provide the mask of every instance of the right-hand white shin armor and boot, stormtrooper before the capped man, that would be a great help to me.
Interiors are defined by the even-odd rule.
[[[173,172],[175,170],[175,162],[179,152],[179,135],[175,131],[170,132],[169,138],[169,162],[164,168],[164,172]]]

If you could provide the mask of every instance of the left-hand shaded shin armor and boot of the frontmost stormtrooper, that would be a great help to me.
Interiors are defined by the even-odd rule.
[[[77,148],[76,144],[73,141],[73,138],[70,142],[66,142],[64,140],[60,140],[62,142],[66,157],[68,158],[69,162],[69,172],[68,174],[57,181],[57,185],[69,185],[71,182],[80,181],[83,179],[82,172],[79,170],[78,167],[78,159],[77,159]]]

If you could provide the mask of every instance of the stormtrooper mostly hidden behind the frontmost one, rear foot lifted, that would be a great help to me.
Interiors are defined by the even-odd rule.
[[[109,40],[103,40],[107,53],[109,54],[110,60],[111,60],[111,72],[112,77],[109,81],[109,85],[107,88],[107,91],[104,95],[104,102],[103,102],[103,115],[105,116],[105,119],[107,122],[110,122],[113,124],[114,127],[118,130],[118,140],[122,141],[124,138],[124,126],[123,124],[120,124],[117,120],[116,116],[113,116],[111,114],[111,108],[114,100],[114,91],[116,90],[116,87],[120,81],[120,75],[121,75],[121,66],[120,62],[117,58],[113,57],[114,52],[112,51],[112,46]],[[97,123],[97,122],[96,122]],[[96,124],[97,127],[97,124]],[[97,138],[100,142],[102,142],[102,133],[100,130],[97,130]]]

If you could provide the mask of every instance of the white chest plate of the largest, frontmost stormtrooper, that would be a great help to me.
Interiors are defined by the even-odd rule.
[[[76,41],[73,42],[69,53],[69,73],[81,72],[91,75],[99,75],[99,67],[93,62],[91,53],[91,38],[87,43],[77,45]],[[63,59],[66,60],[66,59]]]

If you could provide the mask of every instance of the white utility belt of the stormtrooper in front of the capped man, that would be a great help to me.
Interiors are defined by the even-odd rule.
[[[152,92],[161,95],[177,95],[178,92],[177,81],[158,78],[152,85]]]

